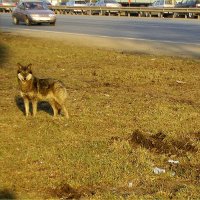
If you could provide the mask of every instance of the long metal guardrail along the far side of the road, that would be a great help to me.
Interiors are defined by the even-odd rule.
[[[0,6],[0,12],[12,12],[14,7]],[[200,19],[200,8],[150,8],[150,7],[69,7],[69,6],[51,6],[56,14],[63,15],[116,15],[116,16],[137,16],[137,17],[184,17]]]

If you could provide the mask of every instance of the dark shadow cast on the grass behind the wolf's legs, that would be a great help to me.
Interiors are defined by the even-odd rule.
[[[24,100],[22,97],[20,96],[16,96],[15,97],[15,102],[17,107],[25,114],[25,106],[24,106]],[[33,108],[32,108],[32,104],[30,103],[30,112],[33,113]],[[53,109],[50,106],[50,104],[46,101],[39,101],[38,105],[37,105],[37,110],[38,111],[45,111],[50,115],[53,115]]]

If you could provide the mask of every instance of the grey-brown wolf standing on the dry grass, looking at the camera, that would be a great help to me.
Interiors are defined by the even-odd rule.
[[[20,93],[24,99],[25,113],[29,115],[29,101],[32,103],[33,116],[37,112],[38,101],[48,101],[53,109],[54,116],[60,110],[64,112],[66,118],[69,118],[66,108],[68,98],[67,90],[64,84],[55,79],[39,79],[35,77],[31,70],[31,65],[18,65],[17,78],[20,88]]]

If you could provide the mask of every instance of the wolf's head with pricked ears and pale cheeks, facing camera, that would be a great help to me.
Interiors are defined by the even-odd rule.
[[[26,82],[30,81],[33,78],[31,65],[21,65],[20,63],[17,63],[18,70],[17,70],[17,77],[20,81]]]

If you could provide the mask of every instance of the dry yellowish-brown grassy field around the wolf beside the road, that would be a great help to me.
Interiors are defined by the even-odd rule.
[[[198,60],[0,42],[0,198],[199,199]],[[65,83],[69,120],[47,103],[24,116],[18,62]]]

